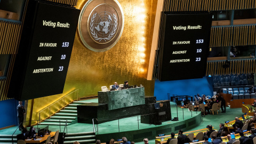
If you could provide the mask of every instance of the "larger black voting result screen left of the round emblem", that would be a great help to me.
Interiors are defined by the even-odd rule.
[[[21,73],[12,78],[10,86],[17,93],[9,91],[10,96],[28,100],[63,92],[79,12],[74,7],[38,1],[28,6],[14,65]]]

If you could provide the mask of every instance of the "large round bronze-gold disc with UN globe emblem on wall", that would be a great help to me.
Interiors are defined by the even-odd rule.
[[[111,49],[124,29],[124,14],[116,0],[89,0],[78,21],[79,36],[83,44],[95,52]]]

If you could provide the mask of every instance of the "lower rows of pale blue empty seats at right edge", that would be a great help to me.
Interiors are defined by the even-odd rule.
[[[232,94],[233,99],[256,99],[255,93],[248,92],[249,87],[234,87],[222,89],[223,93]]]

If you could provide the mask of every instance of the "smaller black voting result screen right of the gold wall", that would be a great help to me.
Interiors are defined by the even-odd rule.
[[[212,14],[163,12],[159,81],[205,76]]]

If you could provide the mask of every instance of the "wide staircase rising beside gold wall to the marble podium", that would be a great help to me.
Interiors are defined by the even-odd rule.
[[[51,116],[50,119],[45,119],[41,125],[65,125],[66,120],[67,125],[77,123],[77,105],[81,105],[83,103],[89,103],[85,101],[74,101],[72,104],[69,104],[65,109],[60,110],[59,113],[56,113],[54,116]]]

